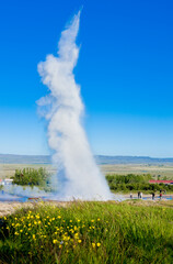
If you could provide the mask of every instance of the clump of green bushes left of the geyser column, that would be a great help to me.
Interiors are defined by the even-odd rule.
[[[12,177],[13,184],[16,185],[31,185],[45,187],[49,184],[50,174],[43,167],[15,169],[15,174]]]

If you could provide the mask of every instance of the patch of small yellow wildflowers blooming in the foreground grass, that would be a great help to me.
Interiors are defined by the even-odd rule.
[[[91,248],[96,249],[101,246],[100,242],[95,242],[95,234],[100,230],[100,218],[92,219],[90,222],[81,219],[68,219],[65,221],[60,210],[54,217],[51,217],[51,213],[48,215],[47,211],[35,213],[30,210],[25,216],[16,216],[7,229],[25,243],[30,242],[32,245],[32,242],[34,242],[34,246],[36,243],[41,248],[45,243],[51,243],[57,249],[64,249],[65,246],[76,249],[91,243]],[[90,233],[89,241],[83,238],[84,233]]]

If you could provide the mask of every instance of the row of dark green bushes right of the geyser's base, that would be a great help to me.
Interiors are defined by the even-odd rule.
[[[149,184],[151,175],[107,175],[106,176],[108,186],[113,191],[145,191],[152,193],[160,189],[166,191],[173,191],[173,186],[164,184]]]

